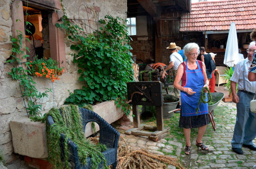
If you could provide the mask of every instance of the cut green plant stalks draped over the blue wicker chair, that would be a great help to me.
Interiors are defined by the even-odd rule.
[[[87,163],[86,158],[90,156],[92,158],[90,168],[97,169],[99,163],[103,160],[103,169],[108,169],[104,155],[101,153],[106,150],[106,146],[104,144],[94,145],[85,137],[78,106],[69,105],[63,106],[60,109],[62,116],[58,109],[52,108],[43,118],[32,118],[33,120],[45,122],[50,115],[55,122],[55,124],[51,126],[46,123],[48,160],[53,165],[53,168],[70,168],[68,162],[70,156],[68,152],[69,142],[67,140],[69,138],[77,145],[80,163],[85,165]],[[65,163],[61,161],[60,133],[65,135]]]

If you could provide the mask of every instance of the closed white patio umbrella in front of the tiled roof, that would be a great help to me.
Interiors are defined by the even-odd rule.
[[[224,64],[228,67],[233,67],[239,61],[238,56],[238,42],[237,42],[237,30],[235,22],[230,25],[228,33],[228,41],[226,46],[226,52],[224,57]]]

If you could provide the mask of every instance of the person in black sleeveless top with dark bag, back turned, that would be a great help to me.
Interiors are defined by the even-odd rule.
[[[200,47],[201,61],[205,63],[206,75],[208,81],[212,78],[212,72],[216,69],[215,62],[212,60],[211,54],[206,53],[205,47]]]

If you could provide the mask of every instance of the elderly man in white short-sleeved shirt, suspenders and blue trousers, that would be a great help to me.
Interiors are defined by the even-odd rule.
[[[230,78],[232,101],[237,104],[237,119],[231,145],[237,154],[243,154],[242,146],[256,151],[256,146],[252,142],[256,136],[255,113],[250,111],[250,101],[255,95],[256,82],[248,80],[248,68],[251,65],[254,50],[256,50],[255,42],[251,42],[247,50],[247,58],[237,63]],[[236,84],[238,84],[237,93]]]

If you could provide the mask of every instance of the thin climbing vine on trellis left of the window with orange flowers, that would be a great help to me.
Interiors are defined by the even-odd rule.
[[[31,23],[27,21],[28,15],[29,14],[27,13],[27,10],[26,10],[25,26],[27,26],[28,24],[31,25]],[[18,21],[20,21],[20,20],[17,19],[16,22],[18,22]],[[26,27],[25,27],[25,31],[30,32],[28,29],[26,29]],[[38,116],[38,115],[40,115],[40,110],[42,110],[42,105],[37,104],[38,99],[40,100],[41,98],[48,97],[47,93],[51,92],[51,89],[47,88],[47,90],[43,93],[38,92],[38,90],[36,89],[36,87],[35,87],[36,82],[33,81],[31,76],[29,75],[29,74],[31,74],[30,67],[29,67],[30,62],[22,62],[22,60],[20,59],[21,58],[20,55],[23,55],[22,56],[23,59],[25,59],[26,57],[29,56],[29,55],[24,54],[24,51],[22,51],[22,46],[23,46],[22,40],[23,40],[24,35],[23,35],[22,31],[20,31],[20,30],[17,30],[17,34],[18,34],[17,38],[10,36],[11,42],[13,43],[13,45],[12,45],[13,53],[10,55],[10,59],[7,60],[6,63],[8,63],[8,62],[12,63],[13,67],[12,67],[11,71],[8,72],[8,74],[11,75],[14,80],[19,81],[20,86],[21,86],[22,96],[24,97],[24,99],[27,102],[27,111],[28,111],[29,115]],[[28,40],[30,42],[30,40],[28,38],[26,38],[26,40]],[[29,51],[27,46],[25,46],[25,48]]]

